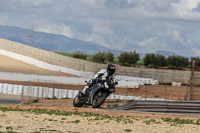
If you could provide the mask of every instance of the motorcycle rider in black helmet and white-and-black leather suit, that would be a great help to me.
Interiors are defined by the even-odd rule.
[[[94,75],[94,79],[91,79],[89,82],[87,82],[87,85],[84,87],[82,90],[82,93],[85,94],[86,90],[90,88],[92,85],[94,85],[96,82],[105,80],[104,86],[105,88],[109,88],[110,92],[115,91],[115,84],[117,81],[114,78],[114,73],[115,73],[116,67],[112,64],[109,64],[107,66],[107,69],[101,69],[98,73]]]

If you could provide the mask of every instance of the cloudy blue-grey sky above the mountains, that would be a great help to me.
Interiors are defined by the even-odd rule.
[[[0,0],[0,25],[115,50],[200,56],[200,0]]]

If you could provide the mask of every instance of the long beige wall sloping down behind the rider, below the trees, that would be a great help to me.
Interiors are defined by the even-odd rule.
[[[58,42],[59,43],[59,42]],[[66,68],[75,69],[85,72],[97,72],[102,68],[106,68],[106,64],[92,63],[84,60],[74,59],[67,56],[62,56],[54,52],[34,48],[21,43],[0,39],[0,49],[11,51],[35,58],[37,60],[58,65]],[[152,68],[136,68],[136,67],[122,67],[117,66],[116,74],[129,75],[135,77],[144,77],[156,79],[159,82],[171,83],[173,81],[187,84],[191,79],[190,71],[181,70],[163,70]],[[200,72],[195,72],[195,75],[200,78]],[[196,82],[200,82],[199,80]]]

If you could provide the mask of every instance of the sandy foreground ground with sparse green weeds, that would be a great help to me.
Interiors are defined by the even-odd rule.
[[[12,107],[13,109],[10,109],[9,107]],[[34,110],[27,110],[30,108]],[[198,125],[199,123],[197,117],[180,118],[180,116],[175,115],[168,116],[149,113],[128,113],[73,107],[31,107],[19,105],[0,105],[0,119],[1,132],[200,132],[200,126]],[[183,122],[185,122],[185,124],[183,124]]]

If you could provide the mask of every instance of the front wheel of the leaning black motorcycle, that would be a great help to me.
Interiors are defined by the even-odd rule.
[[[107,93],[104,91],[98,91],[97,93],[95,93],[93,101],[92,101],[92,107],[93,108],[99,108],[104,101],[107,98]]]

